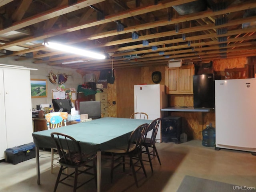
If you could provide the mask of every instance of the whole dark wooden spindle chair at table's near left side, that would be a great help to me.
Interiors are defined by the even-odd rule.
[[[96,154],[82,153],[79,142],[71,136],[57,132],[52,132],[51,136],[58,150],[58,154],[60,155],[60,170],[54,186],[54,192],[56,192],[59,183],[73,187],[73,192],[76,192],[77,188],[93,179],[97,185]],[[89,165],[89,162],[93,164]],[[74,172],[66,174],[63,172],[66,168],[74,168]],[[78,168],[80,169],[78,170]],[[91,169],[93,169],[93,172],[89,172]],[[85,179],[84,182],[77,186],[78,175],[82,173],[91,175],[92,177]],[[60,178],[62,175],[64,175],[64,178]],[[70,177],[74,178],[73,185],[70,184],[70,181],[66,181],[66,179],[70,180]]]

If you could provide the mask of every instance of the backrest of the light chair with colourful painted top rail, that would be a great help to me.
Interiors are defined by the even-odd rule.
[[[55,129],[58,127],[62,127],[63,120],[64,126],[67,126],[66,118],[68,118],[67,112],[52,112],[45,115],[47,121],[47,128],[48,129]]]

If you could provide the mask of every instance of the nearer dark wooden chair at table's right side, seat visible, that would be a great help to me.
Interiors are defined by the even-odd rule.
[[[129,164],[129,167],[132,169],[132,174],[134,176],[134,180],[137,187],[138,187],[138,181],[136,177],[136,172],[138,172],[138,170],[142,168],[145,176],[147,177],[146,170],[142,162],[142,153],[141,153],[141,144],[145,136],[147,126],[148,124],[142,124],[138,126],[130,135],[127,145],[106,151],[106,152],[110,152],[112,155],[111,172],[110,172],[111,182],[113,181],[114,169],[120,165],[123,165],[123,172],[125,173],[125,164]],[[125,162],[126,157],[129,158],[129,162]],[[140,165],[139,165],[139,162],[140,162]],[[135,167],[138,169],[135,170]]]

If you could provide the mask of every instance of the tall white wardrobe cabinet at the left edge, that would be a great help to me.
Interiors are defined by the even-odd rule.
[[[0,160],[6,148],[33,142],[30,70],[0,66]]]

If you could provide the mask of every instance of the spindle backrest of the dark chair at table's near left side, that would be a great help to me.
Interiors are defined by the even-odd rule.
[[[82,162],[81,148],[77,140],[58,132],[52,132],[51,137],[60,155],[60,163],[72,166]]]

